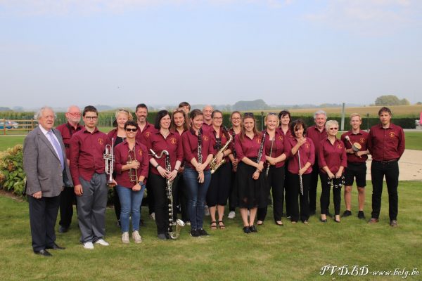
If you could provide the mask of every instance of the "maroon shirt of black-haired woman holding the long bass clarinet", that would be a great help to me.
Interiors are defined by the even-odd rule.
[[[166,155],[162,154],[162,157],[157,159],[151,154],[150,149],[152,149],[157,156],[160,156],[162,150],[167,150],[170,155],[170,166],[172,166],[172,170],[174,169],[177,160],[180,162],[183,160],[183,145],[181,144],[179,133],[170,131],[167,138],[164,138],[160,131],[155,130],[150,134],[150,136],[148,136],[146,147],[148,148],[149,159],[154,158],[155,161],[157,161],[157,163],[160,164],[160,166],[162,166],[164,169],[166,169]],[[151,172],[156,175],[160,175],[158,170],[153,166],[151,166]]]

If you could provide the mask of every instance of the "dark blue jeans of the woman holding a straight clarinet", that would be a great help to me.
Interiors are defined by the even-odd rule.
[[[198,183],[198,172],[185,166],[183,178],[188,190],[188,214],[191,228],[203,228],[205,197],[211,181],[210,170],[204,171],[204,182]]]

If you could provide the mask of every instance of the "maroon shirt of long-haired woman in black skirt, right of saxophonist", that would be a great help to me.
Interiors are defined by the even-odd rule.
[[[236,149],[238,161],[242,161],[244,157],[248,157],[249,159],[258,157],[262,136],[263,135],[255,135],[252,139],[250,139],[248,136],[245,135],[243,140],[241,140],[241,133],[236,135],[234,148]],[[267,141],[267,136],[265,138],[265,141]],[[260,159],[260,162],[265,162],[265,150],[262,150],[262,157]]]

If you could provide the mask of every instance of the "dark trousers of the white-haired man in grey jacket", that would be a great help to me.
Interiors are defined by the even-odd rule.
[[[27,198],[30,207],[32,249],[40,251],[53,246],[56,241],[54,226],[56,226],[60,195],[40,199],[27,195]]]

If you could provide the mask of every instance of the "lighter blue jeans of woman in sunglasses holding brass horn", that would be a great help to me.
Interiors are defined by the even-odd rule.
[[[120,226],[122,233],[129,232],[129,216],[132,212],[132,230],[139,231],[139,220],[141,219],[140,207],[143,198],[145,185],[139,191],[133,191],[132,188],[124,188],[117,185],[117,194],[119,195],[122,210],[120,212]]]

